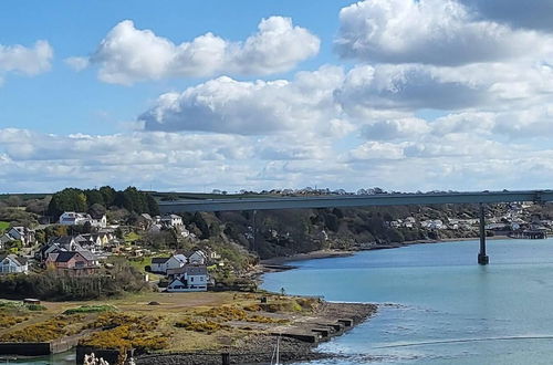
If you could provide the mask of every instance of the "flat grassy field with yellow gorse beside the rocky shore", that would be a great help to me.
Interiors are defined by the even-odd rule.
[[[275,314],[263,311],[262,296],[273,304],[270,310]],[[148,305],[150,302],[159,305]],[[0,328],[0,341],[42,341],[81,333],[84,328],[103,328],[96,335],[83,337],[82,344],[118,348],[132,345],[140,352],[218,350],[229,345],[229,341],[291,323],[301,313],[310,315],[311,302],[276,294],[237,292],[147,292],[94,302],[43,302],[48,311],[39,317],[29,312],[11,312],[6,316],[3,322],[8,327]],[[0,313],[2,307],[22,306],[18,302],[0,301]],[[246,323],[252,324],[248,331]]]

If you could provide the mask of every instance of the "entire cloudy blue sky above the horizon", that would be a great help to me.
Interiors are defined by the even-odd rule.
[[[0,192],[553,188],[553,0],[0,2]]]

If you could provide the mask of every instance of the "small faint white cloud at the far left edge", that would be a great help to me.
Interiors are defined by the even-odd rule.
[[[0,76],[7,72],[38,75],[51,69],[53,56],[54,51],[46,41],[38,41],[31,48],[0,44]]]

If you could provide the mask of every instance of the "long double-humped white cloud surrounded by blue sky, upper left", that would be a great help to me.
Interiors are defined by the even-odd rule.
[[[139,30],[131,20],[115,25],[87,59],[100,67],[107,83],[129,85],[164,77],[212,76],[217,74],[272,74],[293,69],[319,53],[320,40],[290,18],[261,20],[258,32],[243,42],[231,42],[212,33],[175,44]],[[67,60],[81,67],[83,58]]]

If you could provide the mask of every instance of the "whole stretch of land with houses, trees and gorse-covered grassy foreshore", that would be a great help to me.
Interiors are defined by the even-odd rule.
[[[159,201],[349,195],[300,189],[211,194],[67,188],[0,196],[0,356],[63,353],[77,364],[267,362],[284,336],[289,359],[373,315],[373,304],[328,303],[258,289],[288,260],[477,238],[478,205],[159,212]],[[386,191],[362,189],[355,195]],[[487,236],[546,238],[549,204],[493,204]],[[33,313],[41,313],[31,320]],[[190,337],[191,336],[191,337]],[[182,341],[182,338],[196,338]],[[230,346],[228,343],[239,345]],[[39,344],[39,345],[38,345]],[[36,347],[39,346],[39,347]],[[264,355],[255,355],[263,353]],[[154,357],[148,357],[154,356]],[[229,355],[230,356],[230,355]],[[260,357],[261,356],[261,357]],[[264,357],[263,357],[264,356]],[[176,357],[176,358],[177,358]],[[223,357],[227,358],[228,357]],[[223,364],[226,364],[223,362]]]

